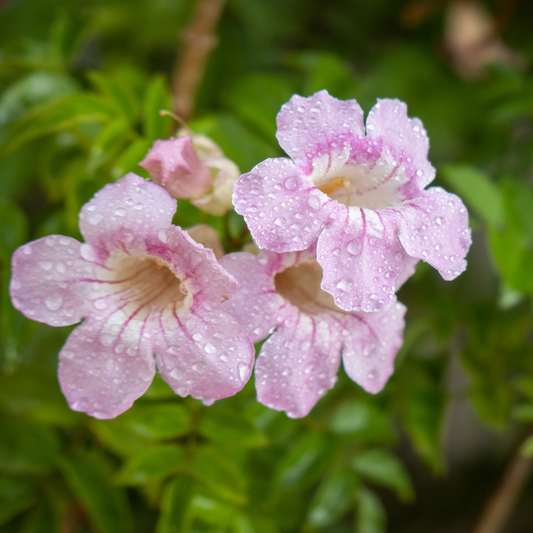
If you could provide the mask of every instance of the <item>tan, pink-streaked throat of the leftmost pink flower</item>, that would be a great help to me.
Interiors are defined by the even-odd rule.
[[[186,284],[161,259],[144,256],[112,256],[101,271],[100,296],[93,301],[98,309],[123,305],[122,311],[143,320],[151,311],[174,311],[192,305]]]

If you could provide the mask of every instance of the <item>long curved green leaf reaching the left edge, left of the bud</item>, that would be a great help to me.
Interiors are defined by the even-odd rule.
[[[53,104],[32,109],[14,122],[3,143],[3,151],[10,152],[38,137],[81,124],[105,122],[113,114],[113,109],[98,96],[72,94]]]

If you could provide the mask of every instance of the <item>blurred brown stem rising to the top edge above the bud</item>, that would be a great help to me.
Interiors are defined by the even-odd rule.
[[[174,111],[189,120],[209,53],[218,44],[214,34],[224,0],[197,0],[192,24],[183,34],[181,58],[172,76]]]

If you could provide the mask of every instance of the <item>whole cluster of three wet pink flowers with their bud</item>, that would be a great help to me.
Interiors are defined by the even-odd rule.
[[[141,162],[152,181],[128,174],[82,208],[84,243],[52,235],[15,252],[15,307],[52,326],[83,320],[59,354],[72,409],[115,417],[156,369],[210,404],[249,380],[264,339],[258,400],[290,417],[334,385],[341,357],[365,390],[383,388],[402,344],[396,291],[420,259],[448,280],[465,269],[466,209],[424,189],[428,138],[398,100],[373,107],[366,135],[357,102],[326,91],[293,96],[277,123],[291,159],[238,178],[205,137],[157,141]],[[222,215],[232,191],[261,250],[217,261],[211,228],[172,225],[172,196]]]

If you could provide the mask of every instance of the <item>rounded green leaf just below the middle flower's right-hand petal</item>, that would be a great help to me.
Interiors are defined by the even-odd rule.
[[[390,442],[394,432],[387,416],[370,403],[355,400],[337,408],[330,429],[338,435],[353,435],[361,442]]]

